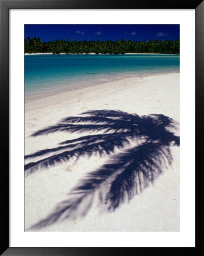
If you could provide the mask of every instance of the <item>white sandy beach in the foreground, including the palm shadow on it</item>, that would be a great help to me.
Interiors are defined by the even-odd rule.
[[[179,73],[25,104],[25,230],[178,232],[179,121]]]

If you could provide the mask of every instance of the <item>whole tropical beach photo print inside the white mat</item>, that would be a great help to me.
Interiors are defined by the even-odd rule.
[[[180,24],[24,25],[24,231],[180,231]]]

